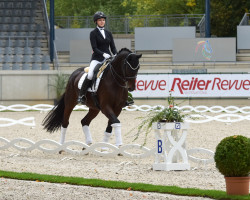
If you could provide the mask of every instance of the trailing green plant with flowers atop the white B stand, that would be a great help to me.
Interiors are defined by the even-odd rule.
[[[137,128],[137,133],[134,140],[139,137],[141,132],[145,131],[145,144],[147,135],[152,130],[152,125],[154,122],[183,122],[184,118],[188,116],[188,114],[182,114],[181,111],[177,109],[176,106],[178,106],[178,104],[175,103],[175,99],[172,96],[172,92],[174,92],[174,90],[169,91],[169,97],[167,98],[167,107],[162,109],[158,106],[153,109],[146,118],[143,118]]]

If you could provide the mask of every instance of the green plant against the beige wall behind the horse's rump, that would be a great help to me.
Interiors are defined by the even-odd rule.
[[[65,92],[68,79],[69,79],[68,75],[58,72],[55,75],[54,79],[52,80],[52,84],[50,84],[50,86],[52,86],[55,89],[56,100],[59,100],[60,97]]]

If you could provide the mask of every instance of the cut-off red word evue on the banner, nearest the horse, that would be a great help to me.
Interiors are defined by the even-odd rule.
[[[165,80],[139,80],[136,81],[136,89],[139,91],[143,90],[166,90],[166,81]]]

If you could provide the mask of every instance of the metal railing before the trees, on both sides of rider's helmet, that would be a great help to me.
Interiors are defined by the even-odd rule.
[[[135,27],[196,26],[204,14],[107,16],[106,28],[112,33],[134,33]],[[92,16],[56,16],[60,28],[94,28]]]

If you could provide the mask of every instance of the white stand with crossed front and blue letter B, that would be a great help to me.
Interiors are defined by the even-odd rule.
[[[184,122],[153,123],[156,152],[153,170],[190,170],[185,140],[189,124]]]

